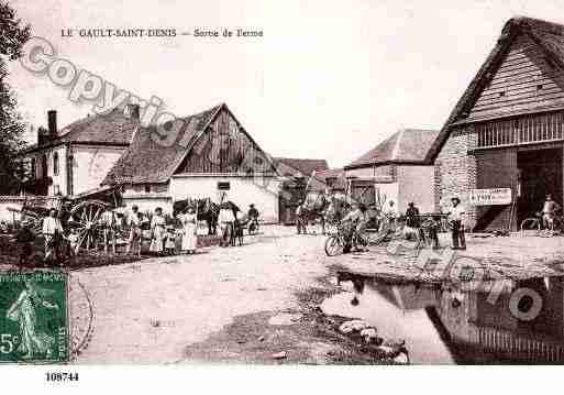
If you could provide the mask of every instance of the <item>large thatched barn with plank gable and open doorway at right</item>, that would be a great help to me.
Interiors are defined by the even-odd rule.
[[[510,19],[429,151],[438,200],[460,196],[476,230],[516,230],[548,194],[562,205],[563,147],[564,26]],[[510,201],[469,205],[499,188]]]

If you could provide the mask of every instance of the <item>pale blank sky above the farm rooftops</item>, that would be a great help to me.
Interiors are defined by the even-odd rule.
[[[12,0],[56,56],[188,116],[225,102],[273,156],[351,163],[400,128],[441,129],[506,21],[564,23],[564,2]],[[263,37],[62,37],[63,29],[262,30]],[[77,33],[75,33],[77,34]],[[62,128],[92,103],[10,64],[20,111]]]

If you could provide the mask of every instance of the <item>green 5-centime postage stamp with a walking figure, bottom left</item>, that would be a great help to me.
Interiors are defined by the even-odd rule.
[[[0,273],[0,362],[66,362],[68,339],[66,273]]]

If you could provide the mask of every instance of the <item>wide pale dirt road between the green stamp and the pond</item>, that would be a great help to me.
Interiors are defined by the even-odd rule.
[[[241,248],[212,248],[198,255],[73,272],[73,281],[88,293],[93,314],[91,339],[76,363],[229,361],[228,343],[241,345],[248,339],[215,339],[213,348],[219,347],[220,354],[201,348],[190,354],[189,347],[221,334],[235,317],[241,321],[243,316],[256,321],[247,331],[255,330],[257,341],[265,342],[268,331],[262,336],[259,328],[268,326],[279,311],[299,311],[297,293],[319,287],[317,279],[328,275],[322,263],[324,238],[297,237],[292,228],[265,227],[263,234],[245,242]],[[71,311],[71,316],[85,311]],[[281,323],[275,318],[270,334],[280,334],[300,316],[278,316]],[[294,356],[273,356],[277,349],[264,348],[256,360],[300,362],[328,347],[308,347],[311,352],[302,347]],[[244,354],[232,355],[233,361],[246,360]]]

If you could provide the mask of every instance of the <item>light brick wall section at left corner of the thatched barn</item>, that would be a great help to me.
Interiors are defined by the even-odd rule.
[[[476,144],[471,128],[458,128],[451,132],[435,161],[435,202],[438,211],[449,211],[451,198],[457,196],[466,208],[466,226],[474,228],[476,210],[468,205],[468,191],[476,188],[476,157],[468,150]]]

